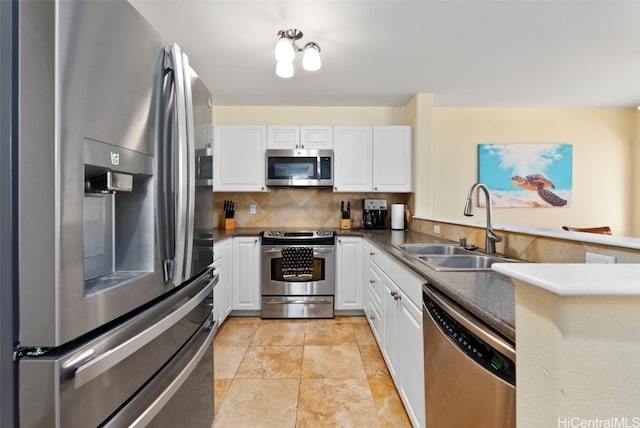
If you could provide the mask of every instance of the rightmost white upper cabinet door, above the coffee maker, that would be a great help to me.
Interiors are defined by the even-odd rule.
[[[411,127],[373,127],[373,190],[411,192]]]

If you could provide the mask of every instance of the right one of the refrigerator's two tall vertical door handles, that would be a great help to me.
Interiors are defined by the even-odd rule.
[[[185,102],[185,127],[186,127],[186,174],[185,177],[185,193],[187,198],[187,214],[185,218],[185,234],[184,234],[184,280],[191,277],[192,257],[193,257],[193,233],[195,222],[195,188],[196,188],[196,149],[195,149],[195,127],[193,119],[193,93],[191,88],[191,66],[189,65],[189,57],[182,54],[182,67],[184,76],[184,102]]]

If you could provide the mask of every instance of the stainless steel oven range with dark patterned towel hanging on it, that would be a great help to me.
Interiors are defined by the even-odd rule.
[[[262,318],[333,318],[335,232],[262,232]]]

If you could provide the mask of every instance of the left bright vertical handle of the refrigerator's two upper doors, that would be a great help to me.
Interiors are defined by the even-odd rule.
[[[174,168],[177,175],[175,187],[175,267],[172,278],[174,286],[185,281],[185,235],[187,233],[187,126],[186,104],[184,95],[184,67],[182,65],[182,51],[177,44],[171,48],[175,73],[175,106],[176,106],[176,134],[174,143]]]

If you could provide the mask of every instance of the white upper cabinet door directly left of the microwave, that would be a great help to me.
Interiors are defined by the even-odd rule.
[[[262,192],[266,126],[214,127],[213,190]]]

